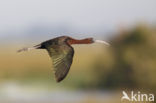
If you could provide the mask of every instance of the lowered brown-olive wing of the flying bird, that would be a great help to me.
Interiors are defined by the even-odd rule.
[[[73,61],[74,49],[66,43],[49,45],[46,49],[53,61],[56,81],[60,82],[68,74]]]

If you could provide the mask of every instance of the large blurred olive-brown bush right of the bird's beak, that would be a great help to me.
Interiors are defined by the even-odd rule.
[[[155,28],[137,26],[119,32],[103,55],[95,60],[92,69],[93,87],[156,91]]]

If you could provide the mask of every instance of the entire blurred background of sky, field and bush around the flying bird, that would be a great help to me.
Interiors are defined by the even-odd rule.
[[[156,94],[154,10],[156,0],[0,0],[0,103],[130,103],[122,91]],[[62,35],[111,46],[72,45],[60,83],[46,50],[16,52]]]

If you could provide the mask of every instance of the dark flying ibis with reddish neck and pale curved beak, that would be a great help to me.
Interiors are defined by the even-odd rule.
[[[36,46],[33,46],[32,48],[20,49],[17,52],[29,51],[31,49],[46,49],[53,62],[53,68],[54,68],[53,70],[54,70],[56,81],[60,82],[67,76],[73,61],[74,49],[71,45],[92,44],[95,42],[109,45],[105,41],[94,40],[93,38],[77,40],[69,36],[60,36],[42,42]]]

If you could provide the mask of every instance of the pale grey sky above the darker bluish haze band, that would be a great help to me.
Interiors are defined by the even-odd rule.
[[[142,21],[156,23],[156,0],[0,0],[0,37],[38,24],[96,31]]]

